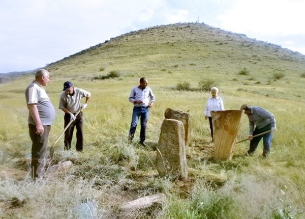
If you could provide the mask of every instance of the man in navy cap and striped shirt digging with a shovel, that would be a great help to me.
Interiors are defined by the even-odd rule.
[[[74,88],[71,81],[64,83],[63,92],[59,97],[59,108],[65,112],[65,127],[73,120],[65,131],[65,150],[71,149],[74,127],[76,127],[76,150],[83,150],[83,113],[80,109],[84,110],[87,107],[90,96],[91,94],[88,91]],[[86,98],[84,104],[80,103],[82,97]]]

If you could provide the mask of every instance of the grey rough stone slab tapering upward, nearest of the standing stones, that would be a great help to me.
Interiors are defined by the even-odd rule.
[[[161,125],[156,157],[156,169],[161,176],[180,174],[188,178],[185,130],[181,121],[164,119]]]

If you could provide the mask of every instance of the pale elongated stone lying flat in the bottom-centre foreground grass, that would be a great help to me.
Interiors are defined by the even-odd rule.
[[[120,209],[130,211],[137,210],[141,208],[150,207],[153,204],[165,204],[166,196],[164,194],[156,194],[151,196],[144,196],[134,201],[128,202],[125,205],[121,206]]]

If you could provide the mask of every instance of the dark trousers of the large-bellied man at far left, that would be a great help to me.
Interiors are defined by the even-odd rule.
[[[37,177],[42,177],[49,158],[48,136],[51,126],[44,125],[43,128],[43,134],[39,135],[36,134],[36,125],[28,124],[29,137],[32,140],[31,176],[33,180]]]

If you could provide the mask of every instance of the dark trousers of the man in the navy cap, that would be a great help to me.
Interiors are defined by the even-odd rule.
[[[75,115],[75,114],[74,114]],[[65,114],[65,127],[70,123],[71,117],[70,114]],[[83,114],[80,112],[76,119],[71,123],[69,128],[65,131],[65,150],[71,149],[71,142],[73,137],[74,127],[76,127],[76,150],[82,151],[83,149]]]

